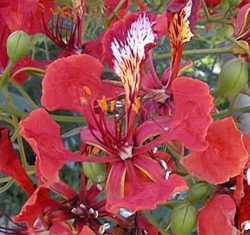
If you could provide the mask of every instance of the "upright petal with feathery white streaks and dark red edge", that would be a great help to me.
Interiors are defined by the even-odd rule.
[[[103,36],[104,59],[120,77],[128,101],[140,86],[140,69],[155,44],[152,16],[132,14],[114,23]]]

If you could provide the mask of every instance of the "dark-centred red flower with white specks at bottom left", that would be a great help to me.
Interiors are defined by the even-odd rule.
[[[60,200],[55,201],[49,197],[46,186],[41,185],[24,204],[15,221],[25,223],[30,232],[49,230],[55,234],[72,234],[73,230],[81,231],[88,225],[98,233],[99,229],[104,229],[99,219],[109,216],[104,208],[105,201],[97,198],[99,193],[95,185],[87,189],[87,182],[82,177],[79,194],[66,200],[61,199],[65,193],[59,193]],[[74,226],[69,221],[74,221]]]

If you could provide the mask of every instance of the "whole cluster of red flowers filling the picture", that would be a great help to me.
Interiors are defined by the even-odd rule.
[[[146,12],[142,1],[137,1],[140,12],[127,15],[131,3],[124,1],[116,17],[109,19],[107,31],[91,43],[82,42],[87,1],[72,2],[60,12],[52,0],[0,3],[1,51],[10,32],[19,29],[47,34],[67,51],[46,69],[43,107],[19,123],[20,135],[36,156],[36,183],[21,165],[8,130],[0,131],[0,171],[28,197],[14,218],[25,224],[17,233],[115,235],[132,228],[136,234],[157,235],[158,228],[145,220],[143,212],[180,195],[187,198],[192,177],[216,186],[199,205],[198,234],[240,234],[250,220],[250,136],[242,137],[233,118],[213,121],[208,85],[181,75],[183,49],[194,36],[200,2],[174,0],[159,17]],[[104,14],[109,17],[116,5],[117,1],[105,1]],[[235,31],[248,43],[249,20],[244,20],[249,9],[246,4],[239,10]],[[66,36],[60,31],[65,18],[72,23]],[[159,79],[152,49],[165,36],[171,63]],[[5,67],[6,61],[1,53],[0,65]],[[105,65],[116,81],[102,79]],[[60,126],[48,113],[52,111],[83,116],[81,151],[65,148]],[[170,157],[164,148],[178,157]],[[105,182],[89,183],[81,172],[76,192],[59,174],[71,162],[105,166]]]

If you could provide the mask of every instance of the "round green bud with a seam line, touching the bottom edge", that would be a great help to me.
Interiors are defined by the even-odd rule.
[[[175,207],[170,219],[173,235],[190,235],[195,227],[196,217],[197,209],[190,204]]]

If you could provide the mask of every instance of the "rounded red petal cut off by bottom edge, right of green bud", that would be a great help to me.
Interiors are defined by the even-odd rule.
[[[233,226],[236,206],[228,195],[216,195],[198,215],[199,235],[239,235]]]

